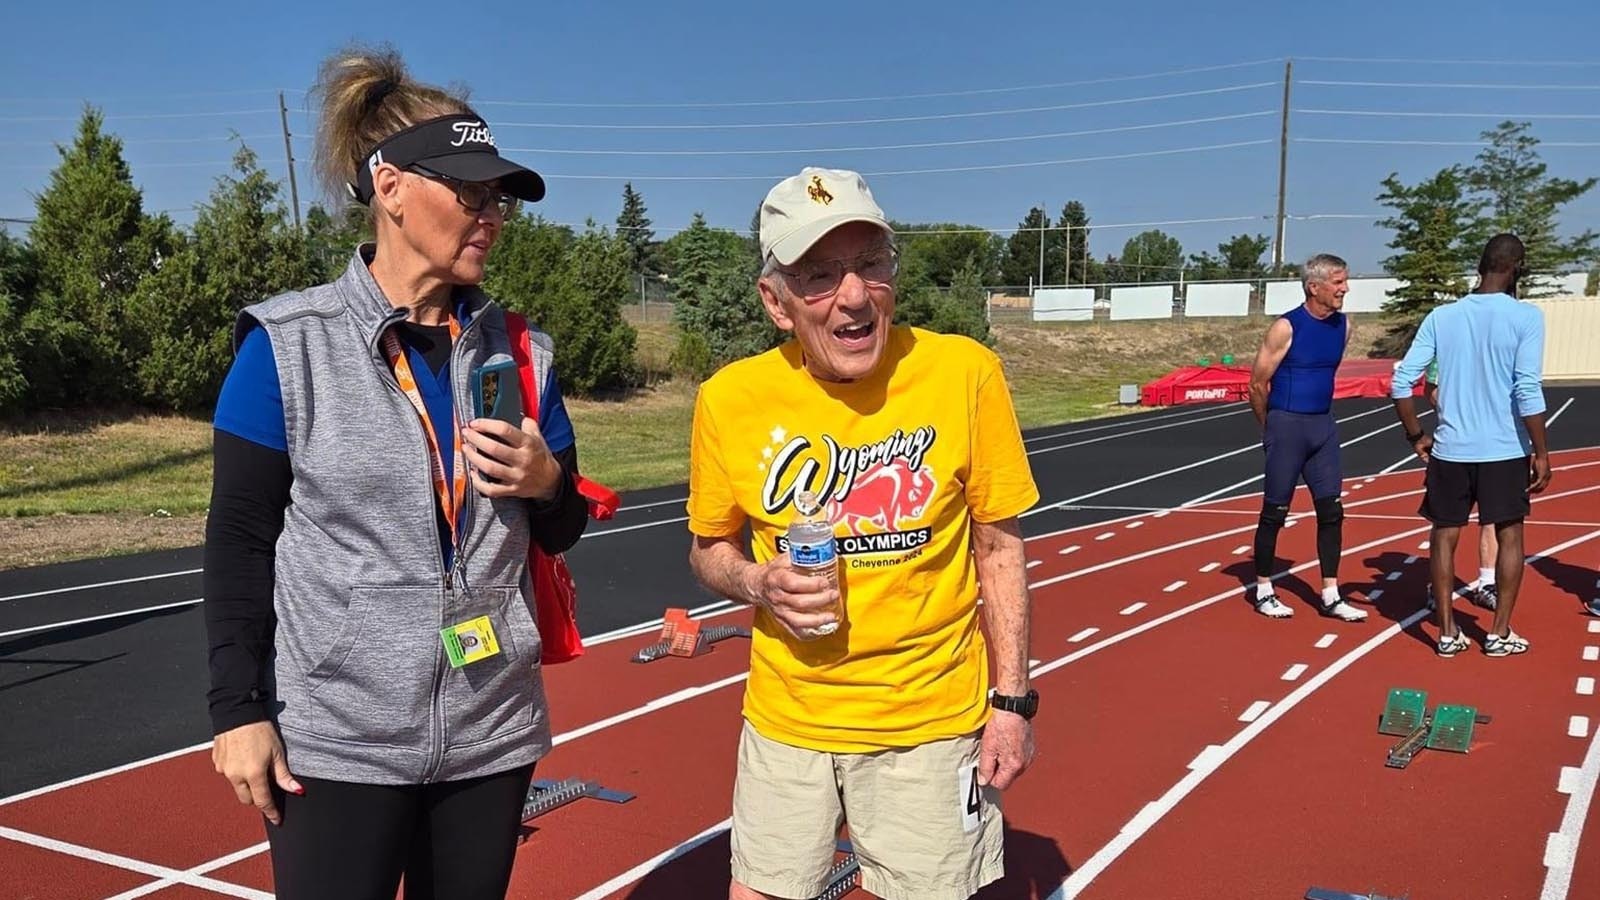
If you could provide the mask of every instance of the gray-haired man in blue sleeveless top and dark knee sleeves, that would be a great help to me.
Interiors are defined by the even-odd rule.
[[[1322,564],[1322,615],[1363,621],[1366,612],[1339,596],[1344,506],[1339,503],[1339,426],[1333,421],[1333,376],[1350,343],[1341,309],[1349,266],[1330,253],[1306,263],[1306,303],[1285,312],[1261,341],[1250,373],[1250,407],[1267,452],[1261,522],[1256,525],[1256,583],[1250,601],[1272,618],[1294,615],[1272,591],[1278,530],[1288,520],[1294,485],[1306,479],[1317,511],[1317,559]]]

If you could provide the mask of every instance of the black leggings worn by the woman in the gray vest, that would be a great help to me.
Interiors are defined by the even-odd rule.
[[[533,765],[437,785],[298,778],[267,823],[278,900],[502,900]]]

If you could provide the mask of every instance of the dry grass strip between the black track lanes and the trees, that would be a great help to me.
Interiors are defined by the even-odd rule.
[[[1024,428],[1136,412],[1142,384],[1197,357],[1248,362],[1266,317],[1190,322],[997,325],[995,349]],[[1379,328],[1358,328],[1352,357]],[[586,474],[618,490],[688,477],[694,386],[667,378],[672,327],[638,327],[646,386],[568,399]],[[0,426],[0,569],[192,546],[211,495],[211,424],[154,415],[51,415]]]

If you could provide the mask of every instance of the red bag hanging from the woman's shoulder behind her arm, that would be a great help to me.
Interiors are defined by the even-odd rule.
[[[539,420],[539,386],[533,378],[533,344],[528,320],[515,312],[506,312],[506,333],[510,336],[510,356],[517,360],[522,376],[523,415]],[[622,498],[603,484],[574,476],[578,493],[589,501],[589,516],[598,520],[616,516]],[[544,653],[539,661],[550,666],[568,663],[584,655],[584,641],[578,633],[578,585],[566,567],[563,554],[549,554],[538,543],[528,544],[528,573],[533,578],[533,620],[539,626]]]

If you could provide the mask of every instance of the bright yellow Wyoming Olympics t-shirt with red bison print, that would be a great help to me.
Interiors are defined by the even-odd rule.
[[[845,623],[798,641],[758,610],[744,716],[771,740],[827,753],[979,729],[989,666],[971,520],[1038,500],[1000,359],[899,327],[856,383],[811,378],[795,341],[725,367],[694,404],[690,530],[749,525],[766,562],[797,487],[826,498]]]

